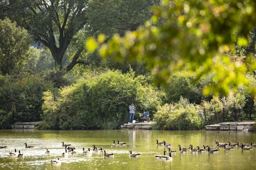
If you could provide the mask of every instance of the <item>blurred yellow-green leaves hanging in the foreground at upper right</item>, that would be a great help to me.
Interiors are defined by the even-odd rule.
[[[164,84],[177,70],[195,71],[198,79],[211,73],[204,95],[226,95],[249,84],[246,74],[256,69],[255,57],[238,61],[227,54],[235,50],[234,43],[248,45],[256,23],[254,1],[163,0],[152,12],[150,21],[123,37],[115,34],[108,42],[101,40],[102,35],[89,39],[87,50],[145,62],[157,84]]]

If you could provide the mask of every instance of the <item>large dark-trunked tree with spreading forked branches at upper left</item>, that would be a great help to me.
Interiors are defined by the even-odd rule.
[[[9,6],[7,16],[26,28],[36,42],[49,48],[55,65],[62,68],[63,57],[73,36],[88,23],[88,2],[89,0],[6,0],[5,4]]]

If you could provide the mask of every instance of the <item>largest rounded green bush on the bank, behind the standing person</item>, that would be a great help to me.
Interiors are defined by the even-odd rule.
[[[137,112],[154,113],[163,94],[147,85],[134,73],[107,71],[87,75],[77,83],[61,89],[60,97],[45,92],[41,127],[54,129],[118,128],[128,122],[129,105]],[[138,117],[135,117],[138,118]]]

